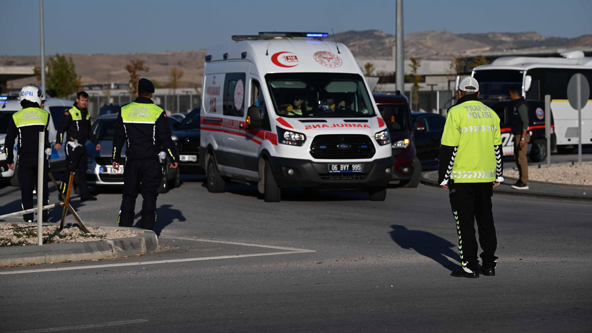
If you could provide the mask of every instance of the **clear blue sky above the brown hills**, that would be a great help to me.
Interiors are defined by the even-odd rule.
[[[0,55],[39,53],[39,1],[0,0]],[[204,49],[258,31],[395,33],[395,0],[45,0],[46,53]],[[590,0],[404,0],[404,30],[592,33]]]

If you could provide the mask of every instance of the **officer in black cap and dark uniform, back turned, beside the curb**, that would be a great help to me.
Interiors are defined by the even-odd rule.
[[[113,140],[113,167],[120,168],[121,148],[126,146],[126,164],[123,172],[123,196],[118,223],[132,226],[134,208],[141,181],[144,198],[140,227],[152,230],[156,223],[156,190],[160,186],[163,165],[159,154],[164,151],[170,156],[171,168],[178,167],[179,156],[170,133],[165,110],[155,105],[150,98],[154,85],[147,79],[138,82],[138,97],[130,104],[123,105],[115,123]],[[126,140],[127,139],[127,140]]]

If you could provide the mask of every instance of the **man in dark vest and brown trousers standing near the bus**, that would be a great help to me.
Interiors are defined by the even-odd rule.
[[[512,185],[516,190],[528,190],[528,161],[526,151],[530,141],[528,133],[529,106],[522,97],[522,87],[515,85],[510,88],[510,98],[513,101],[510,114],[511,133],[514,135],[514,161],[520,178]]]

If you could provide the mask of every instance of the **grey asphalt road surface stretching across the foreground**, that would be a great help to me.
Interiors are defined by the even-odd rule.
[[[497,275],[468,279],[449,275],[444,190],[391,188],[385,202],[293,190],[265,203],[254,187],[211,194],[184,178],[159,196],[159,252],[0,268],[0,332],[590,332],[589,204],[495,196]],[[81,217],[116,225],[121,195],[98,198],[75,201]],[[0,188],[0,206],[20,209],[18,189]]]

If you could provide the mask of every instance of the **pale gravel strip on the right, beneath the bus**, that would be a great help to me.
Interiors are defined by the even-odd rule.
[[[516,167],[504,169],[504,176],[518,178]],[[532,165],[528,168],[529,180],[559,182],[562,184],[592,185],[592,164],[582,165],[552,164],[551,168],[546,165]]]

